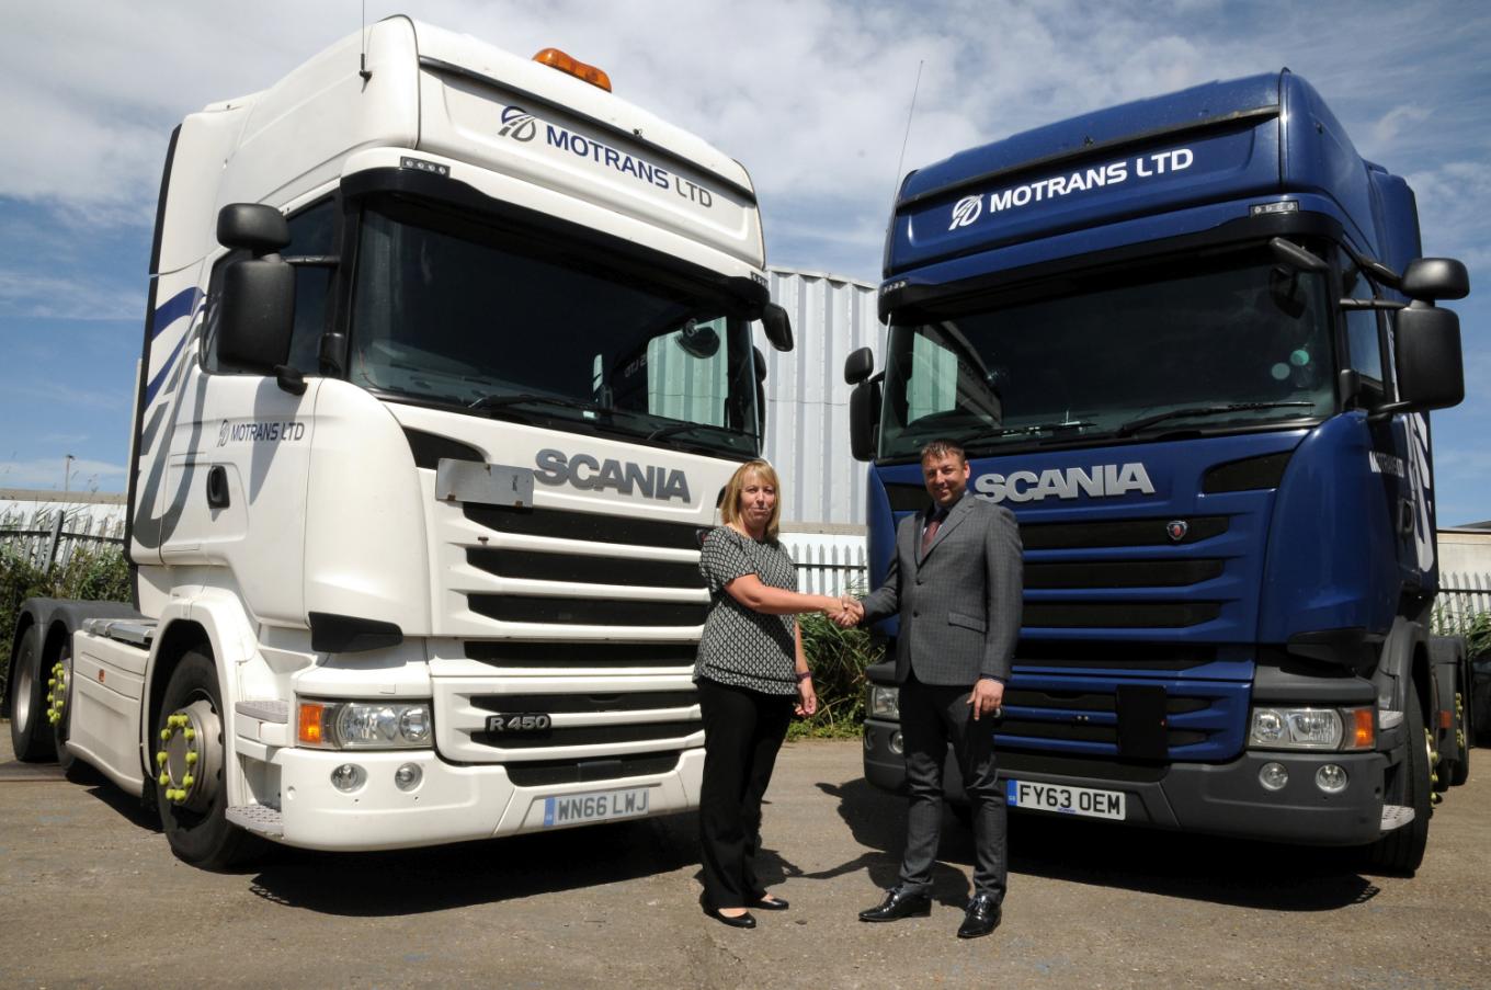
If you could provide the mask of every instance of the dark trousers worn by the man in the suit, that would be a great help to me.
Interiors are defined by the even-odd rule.
[[[901,686],[901,738],[907,747],[907,851],[901,884],[927,893],[942,830],[942,762],[951,744],[963,790],[974,808],[974,893],[1005,899],[1008,881],[1003,795],[994,777],[994,723],[974,722],[971,687],[923,684],[915,674]]]

